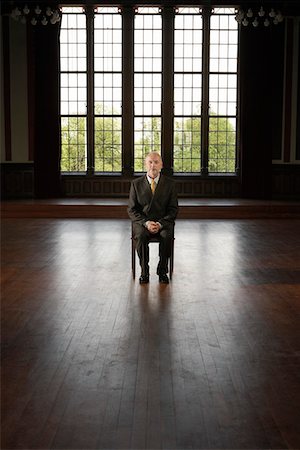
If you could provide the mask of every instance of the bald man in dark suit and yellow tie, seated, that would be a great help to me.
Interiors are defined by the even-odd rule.
[[[140,260],[140,283],[149,283],[149,240],[159,237],[157,275],[160,283],[169,283],[168,259],[178,212],[175,183],[161,174],[163,162],[157,152],[145,158],[146,174],[131,183],[128,215],[133,223],[133,238]]]

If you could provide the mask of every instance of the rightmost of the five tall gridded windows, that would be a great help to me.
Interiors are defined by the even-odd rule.
[[[211,16],[208,170],[235,172],[238,25],[232,8]]]

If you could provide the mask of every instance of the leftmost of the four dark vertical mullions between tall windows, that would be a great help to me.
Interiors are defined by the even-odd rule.
[[[86,7],[87,21],[87,175],[95,171],[95,119],[94,119],[94,9]]]

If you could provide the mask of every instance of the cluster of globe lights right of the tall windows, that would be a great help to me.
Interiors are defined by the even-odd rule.
[[[263,6],[261,6],[258,11],[255,11],[252,8],[249,8],[246,11],[238,9],[235,16],[235,20],[239,24],[244,27],[252,25],[254,28],[257,28],[259,25],[265,27],[268,27],[271,24],[278,25],[283,19],[284,17],[280,11],[276,11],[274,8],[266,11]]]

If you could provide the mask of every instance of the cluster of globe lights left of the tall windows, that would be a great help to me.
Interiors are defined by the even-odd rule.
[[[28,5],[25,5],[24,8],[18,6],[13,8],[10,17],[24,24],[29,21],[33,26],[38,24],[46,26],[58,23],[61,19],[61,13],[58,9],[52,9],[50,6],[41,9],[39,5],[36,5],[30,9]]]

